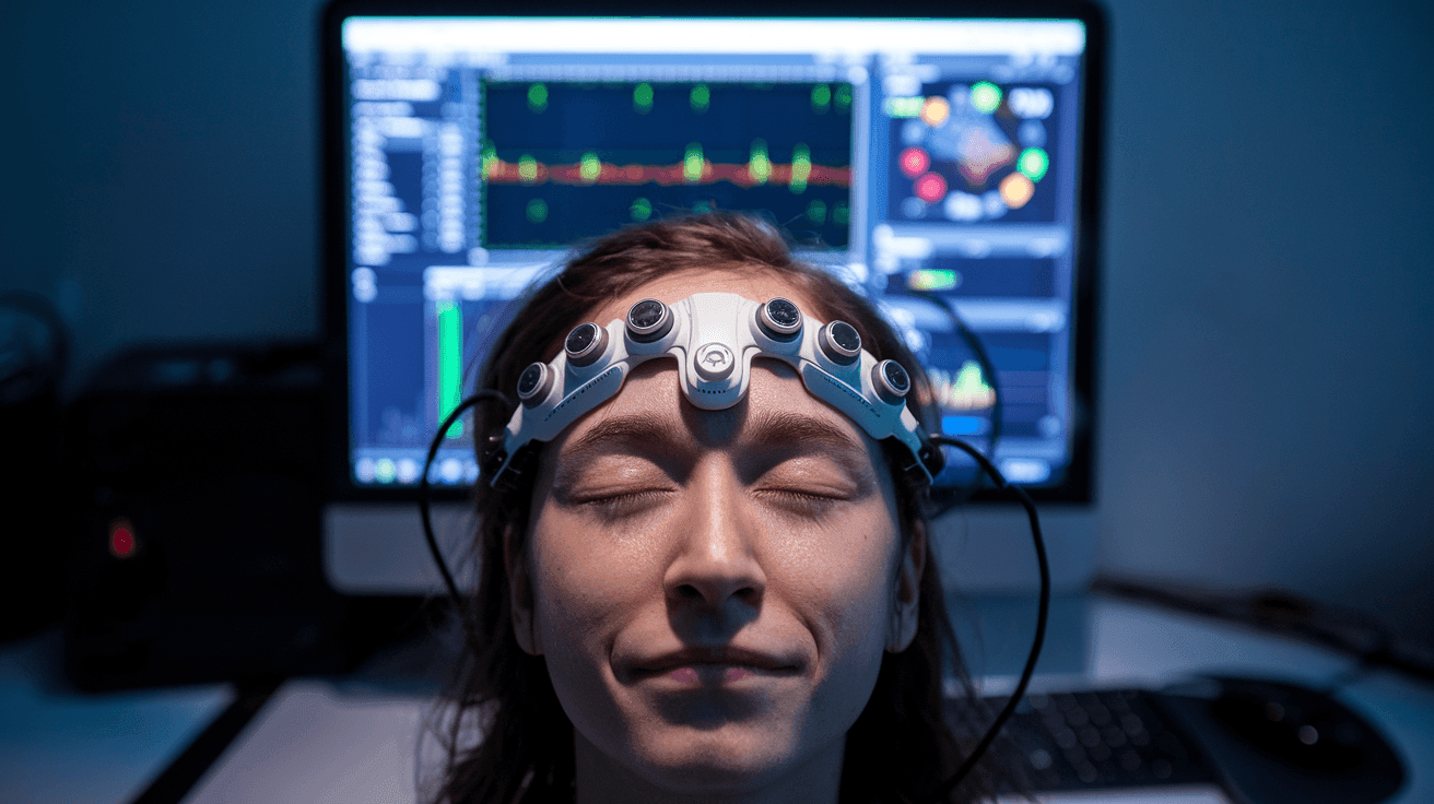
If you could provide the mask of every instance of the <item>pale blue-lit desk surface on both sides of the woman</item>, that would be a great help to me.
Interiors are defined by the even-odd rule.
[[[1086,672],[1037,676],[1032,686],[1159,686],[1196,674],[1318,685],[1349,666],[1349,659],[1302,642],[1190,615],[1106,599],[1093,599],[1086,612]],[[26,676],[24,664],[23,652],[0,654],[0,800],[7,803],[126,801],[232,699],[222,686],[53,695]],[[1012,684],[1010,676],[982,681],[989,694]],[[1390,804],[1434,801],[1434,688],[1371,672],[1338,697],[1377,722],[1405,762],[1407,784]],[[288,682],[185,803],[412,803],[420,768],[439,757],[430,741],[419,740],[430,715],[432,702],[413,692]],[[1187,794],[1143,801],[1213,800]]]

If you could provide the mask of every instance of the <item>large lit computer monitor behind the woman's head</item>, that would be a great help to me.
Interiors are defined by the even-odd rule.
[[[337,588],[436,583],[419,474],[513,301],[575,244],[691,211],[786,226],[906,337],[948,434],[998,433],[1010,479],[1090,500],[1096,7],[585,9],[326,10]],[[430,480],[457,512],[478,474],[455,427]]]

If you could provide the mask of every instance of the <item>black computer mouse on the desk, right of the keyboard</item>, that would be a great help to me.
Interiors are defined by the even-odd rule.
[[[1384,735],[1326,692],[1215,676],[1167,688],[1159,699],[1249,804],[1378,804],[1404,785],[1404,765]]]

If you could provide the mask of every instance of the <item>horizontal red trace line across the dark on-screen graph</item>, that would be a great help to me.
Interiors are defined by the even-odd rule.
[[[710,185],[716,182],[731,182],[741,188],[753,188],[760,183],[790,185],[793,165],[771,163],[767,181],[760,182],[751,175],[750,165],[724,165],[703,161],[703,178],[688,181],[681,162],[675,165],[612,165],[599,162],[597,178],[584,178],[582,163],[545,165],[533,162],[532,175],[523,178],[518,162],[503,162],[489,158],[483,163],[483,181],[493,185],[541,185],[552,182],[555,185]],[[850,168],[827,168],[812,165],[806,182],[807,185],[850,186]]]

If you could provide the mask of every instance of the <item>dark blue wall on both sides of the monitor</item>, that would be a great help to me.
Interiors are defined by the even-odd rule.
[[[1434,642],[1430,7],[1107,7],[1101,568]],[[317,337],[317,13],[0,6],[0,287],[59,304],[80,373]]]

